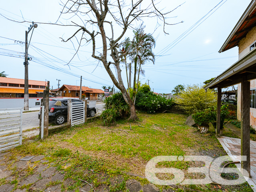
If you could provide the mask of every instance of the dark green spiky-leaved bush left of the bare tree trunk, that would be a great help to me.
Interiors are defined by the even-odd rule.
[[[101,114],[102,124],[104,126],[111,124],[117,119],[129,116],[130,109],[125,102],[122,93],[116,93],[105,98],[105,111]]]

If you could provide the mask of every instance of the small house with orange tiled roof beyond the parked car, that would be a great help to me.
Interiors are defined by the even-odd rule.
[[[80,86],[62,85],[58,91],[61,92],[62,97],[79,97]],[[88,100],[98,100],[99,95],[104,94],[104,91],[82,86],[82,94],[85,94],[85,98]]]

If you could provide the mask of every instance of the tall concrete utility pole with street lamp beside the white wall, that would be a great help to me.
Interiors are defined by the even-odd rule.
[[[34,24],[34,22],[32,22],[32,25],[30,25],[30,27],[28,28],[28,31],[25,32],[25,62],[23,63],[25,66],[25,78],[24,78],[24,110],[28,110],[28,98],[29,98],[29,94],[28,94],[28,59],[31,60],[30,58],[28,58],[28,46],[30,44],[30,40],[33,34],[31,34],[29,43],[28,43],[28,33],[31,31],[31,29],[33,28],[37,28],[37,24]]]

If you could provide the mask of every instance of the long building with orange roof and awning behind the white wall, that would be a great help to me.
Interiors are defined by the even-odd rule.
[[[28,80],[29,97],[42,97],[47,82]],[[24,79],[0,77],[0,98],[24,98]]]

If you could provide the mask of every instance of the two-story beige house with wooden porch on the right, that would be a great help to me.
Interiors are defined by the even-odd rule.
[[[225,18],[223,18],[225,19]],[[228,22],[228,20],[226,21]],[[222,88],[238,84],[238,119],[241,119],[241,156],[242,168],[250,176],[250,125],[256,128],[256,0],[252,0],[244,14],[224,42],[220,53],[238,46],[239,60],[217,76],[204,88],[218,89],[217,97],[217,129],[220,134]],[[245,159],[245,158],[244,158]],[[251,159],[251,161],[254,161]],[[252,166],[254,166],[252,164]],[[254,166],[255,168],[255,166]],[[242,171],[244,174],[244,172]],[[254,175],[253,175],[254,177]],[[256,177],[254,177],[256,180]],[[256,190],[256,187],[254,187]],[[252,185],[251,185],[252,186]]]

